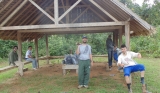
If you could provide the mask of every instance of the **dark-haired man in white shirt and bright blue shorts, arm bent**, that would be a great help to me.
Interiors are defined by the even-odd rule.
[[[127,51],[127,47],[126,45],[121,45],[121,54],[118,57],[118,66],[123,67],[123,72],[124,72],[124,76],[125,76],[125,80],[127,83],[127,87],[129,89],[129,93],[132,93],[132,90],[130,88],[131,85],[131,81],[129,79],[130,73],[132,72],[137,72],[140,71],[141,72],[141,83],[142,83],[142,91],[143,93],[149,93],[146,91],[146,86],[145,86],[145,82],[144,82],[144,74],[145,74],[145,67],[142,64],[137,64],[132,58],[134,57],[138,57],[141,58],[141,54],[140,53],[135,53],[132,51]]]

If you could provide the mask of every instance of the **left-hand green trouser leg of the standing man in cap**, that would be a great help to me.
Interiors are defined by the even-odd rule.
[[[82,60],[79,60],[78,67],[78,82],[79,85],[84,85],[84,63]]]

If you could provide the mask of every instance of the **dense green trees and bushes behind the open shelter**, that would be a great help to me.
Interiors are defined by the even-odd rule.
[[[151,57],[160,57],[160,2],[156,1],[153,5],[147,3],[144,0],[142,6],[133,3],[131,0],[120,0],[132,11],[137,13],[142,19],[146,20],[148,23],[152,24],[157,29],[157,33],[152,36],[139,36],[131,38],[131,50],[136,52],[141,52],[143,55]],[[106,54],[106,38],[109,33],[98,33],[98,34],[86,34],[89,38],[88,42],[92,46],[93,54]],[[69,50],[75,52],[76,43],[81,42],[82,34],[66,34],[66,35],[51,35],[48,38],[49,41],[49,53],[53,55],[64,55],[67,54]],[[16,41],[3,41],[0,40],[0,58],[8,57],[8,53],[11,48],[17,45]],[[23,57],[29,45],[33,46],[33,42],[23,42],[22,53]],[[46,44],[45,38],[39,40],[39,56],[46,55]]]

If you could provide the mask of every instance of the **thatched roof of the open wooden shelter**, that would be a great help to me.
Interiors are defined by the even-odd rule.
[[[32,0],[30,0],[32,1]],[[1,0],[0,2],[0,39],[4,40],[17,40],[17,31],[29,31],[22,33],[22,40],[32,40],[41,38],[45,34],[67,34],[67,33],[101,33],[106,31],[112,31],[117,29],[109,30],[94,30],[94,27],[85,27],[83,24],[81,27],[77,26],[73,29],[63,27],[53,27],[50,24],[54,24],[51,18],[44,15],[37,7],[35,7],[28,0]],[[45,10],[51,17],[54,18],[54,0],[33,0],[39,7]],[[67,0],[59,1],[59,16],[62,16],[64,12],[77,2],[77,0],[69,0],[68,6]],[[91,0],[92,1],[92,0]],[[118,0],[94,0],[101,8],[103,8],[111,16],[107,16],[106,13],[102,12],[96,7],[90,0],[82,0],[73,10],[69,12],[69,20],[64,17],[59,22],[60,24],[72,24],[75,23],[98,23],[98,22],[113,22],[115,20],[119,22],[130,22],[130,30],[134,31],[132,36],[137,35],[150,35],[154,33],[153,27],[146,21],[142,20],[138,15],[133,13],[130,9],[120,3]],[[21,6],[21,7],[20,7]],[[16,12],[17,10],[17,12]],[[13,15],[14,14],[14,15]],[[81,15],[81,16],[80,16]],[[115,20],[114,20],[115,18]],[[35,26],[36,27],[35,27]],[[43,28],[43,25],[47,28]],[[78,24],[77,24],[78,25]],[[21,26],[21,27],[20,27]],[[28,29],[30,26],[30,29]],[[53,25],[54,26],[54,25]],[[116,25],[121,26],[122,25]],[[18,28],[19,27],[19,28]],[[70,27],[70,26],[69,26]],[[104,27],[103,25],[99,27]],[[110,26],[112,27],[112,26]],[[83,28],[92,28],[92,30],[80,31]],[[96,29],[96,27],[95,27]],[[104,28],[105,29],[105,28]],[[107,29],[107,28],[106,28]],[[49,31],[48,31],[49,30]],[[74,31],[75,30],[75,31]],[[86,30],[86,29],[84,29]],[[48,32],[47,32],[48,31]],[[53,31],[53,32],[52,32]],[[124,31],[123,31],[124,33]]]

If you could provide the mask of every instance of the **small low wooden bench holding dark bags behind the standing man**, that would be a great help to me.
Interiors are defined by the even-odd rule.
[[[67,69],[75,69],[76,74],[78,74],[78,65],[68,65],[68,64],[62,64],[62,70],[63,70],[63,75],[66,74]]]

